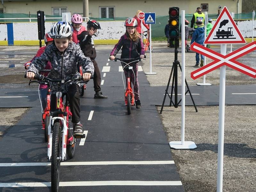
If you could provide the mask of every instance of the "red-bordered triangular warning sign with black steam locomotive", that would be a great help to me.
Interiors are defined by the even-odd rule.
[[[246,43],[227,7],[224,7],[204,44]]]

